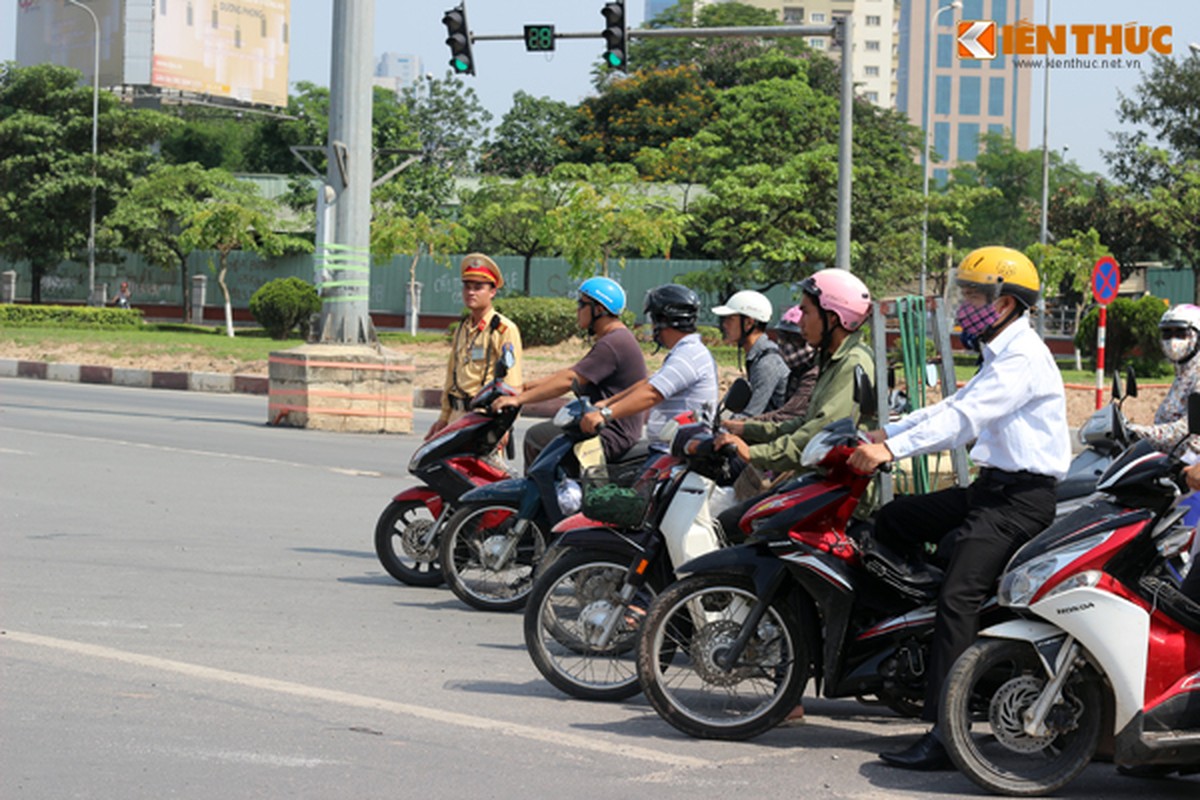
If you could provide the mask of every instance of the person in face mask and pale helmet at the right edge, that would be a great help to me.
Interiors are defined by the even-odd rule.
[[[1188,395],[1200,391],[1200,307],[1182,303],[1158,320],[1163,355],[1175,367],[1175,380],[1154,413],[1153,425],[1130,425],[1129,431],[1157,450],[1169,451],[1188,435]],[[1200,461],[1200,441],[1187,444],[1184,461]]]

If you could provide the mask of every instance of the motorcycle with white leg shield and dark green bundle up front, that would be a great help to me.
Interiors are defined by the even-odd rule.
[[[740,411],[750,393],[738,379],[712,426],[691,413],[667,423],[660,439],[670,451],[630,487],[610,483],[611,470],[584,473],[583,512],[554,527],[524,612],[529,657],[563,692],[619,700],[640,691],[634,649],[644,604],[677,564],[724,545],[714,506],[732,501],[732,489],[714,493],[733,483],[736,450],[714,451],[713,437],[721,410]]]

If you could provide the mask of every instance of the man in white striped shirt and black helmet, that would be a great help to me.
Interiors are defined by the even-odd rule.
[[[654,325],[654,341],[671,351],[653,375],[584,414],[580,420],[584,433],[649,410],[646,435],[654,447],[661,445],[658,434],[662,426],[677,414],[692,410],[703,421],[712,421],[718,402],[716,362],[696,332],[700,296],[688,287],[668,283],[646,296],[646,314]]]

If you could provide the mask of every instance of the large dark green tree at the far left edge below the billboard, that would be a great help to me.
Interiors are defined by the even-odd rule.
[[[79,83],[76,70],[0,65],[0,253],[29,261],[35,303],[42,301],[44,275],[62,260],[83,259],[92,190],[100,224],[154,161],[150,144],[178,125],[101,92],[94,164],[92,92]]]

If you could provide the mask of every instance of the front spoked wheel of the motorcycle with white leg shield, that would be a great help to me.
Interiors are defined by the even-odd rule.
[[[626,572],[629,564],[611,553],[575,551],[534,583],[524,613],[529,657],[572,697],[623,700],[641,691],[635,651],[644,608],[638,613],[622,602]]]

